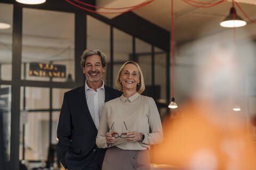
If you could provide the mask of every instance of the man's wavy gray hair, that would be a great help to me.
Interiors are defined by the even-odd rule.
[[[86,49],[84,50],[82,56],[81,56],[81,66],[82,68],[85,66],[86,58],[92,55],[98,55],[101,59],[102,67],[106,67],[106,55],[102,53],[99,49]]]

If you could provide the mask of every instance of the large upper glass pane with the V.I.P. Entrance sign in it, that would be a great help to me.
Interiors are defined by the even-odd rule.
[[[74,81],[75,14],[23,8],[21,79]]]

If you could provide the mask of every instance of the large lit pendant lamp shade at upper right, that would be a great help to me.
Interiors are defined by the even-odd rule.
[[[234,14],[235,13],[235,20]],[[233,27],[243,27],[246,22],[236,14],[236,9],[231,7],[229,15],[220,23],[221,27],[233,28]]]

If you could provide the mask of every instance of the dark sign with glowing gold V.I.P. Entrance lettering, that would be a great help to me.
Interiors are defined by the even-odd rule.
[[[29,75],[37,77],[66,78],[66,65],[29,63]]]

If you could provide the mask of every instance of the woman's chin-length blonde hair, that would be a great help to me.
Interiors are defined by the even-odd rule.
[[[133,64],[135,66],[137,66],[138,70],[139,70],[139,80],[140,80],[140,83],[139,85],[137,85],[137,92],[139,94],[141,94],[144,90],[145,90],[145,83],[144,83],[144,79],[143,79],[143,74],[142,74],[142,71],[140,69],[140,66],[138,63],[134,62],[134,61],[127,61],[125,62],[121,68],[119,69],[118,71],[118,74],[117,74],[117,77],[116,77],[116,89],[119,90],[119,91],[123,91],[123,85],[122,83],[120,82],[119,78],[124,70],[124,66],[127,65],[127,64]]]

